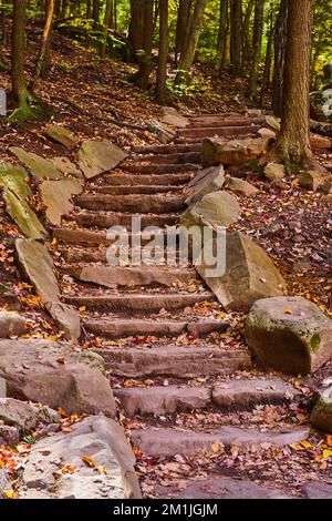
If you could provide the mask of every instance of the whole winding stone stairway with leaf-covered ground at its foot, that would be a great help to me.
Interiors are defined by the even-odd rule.
[[[134,149],[53,231],[63,299],[80,309],[86,347],[110,369],[146,497],[289,497],[320,479],[319,466],[297,452],[310,436],[307,389],[255,368],[243,314],[227,314],[189,264],[107,263],[107,229],[131,229],[133,216],[162,227],[166,241],[205,136],[251,135],[256,123],[193,118],[175,144]]]

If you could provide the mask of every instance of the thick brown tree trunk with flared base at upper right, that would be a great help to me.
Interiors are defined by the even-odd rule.
[[[309,134],[312,0],[289,2],[281,131],[277,153],[288,165],[314,163]]]

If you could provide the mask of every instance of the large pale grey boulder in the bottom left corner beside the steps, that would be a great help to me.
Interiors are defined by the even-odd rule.
[[[95,467],[83,458],[92,458]],[[59,463],[60,461],[60,463]],[[75,472],[61,473],[70,463]],[[105,466],[97,474],[96,467]],[[135,457],[122,427],[103,417],[89,417],[72,426],[69,433],[59,432],[38,441],[29,453],[22,477],[22,499],[141,499]]]

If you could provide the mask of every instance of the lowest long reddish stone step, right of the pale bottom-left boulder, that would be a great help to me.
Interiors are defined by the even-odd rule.
[[[132,432],[132,445],[144,454],[156,458],[173,458],[175,454],[194,456],[200,452],[214,452],[214,443],[226,447],[255,447],[270,443],[284,447],[304,441],[309,437],[308,427],[289,427],[261,432],[259,429],[241,429],[232,426],[220,427],[215,432],[179,431],[170,428],[138,429]]]

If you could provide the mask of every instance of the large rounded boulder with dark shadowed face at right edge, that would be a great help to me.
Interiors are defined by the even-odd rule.
[[[287,374],[307,375],[332,359],[332,320],[304,298],[259,300],[245,335],[260,362]]]

